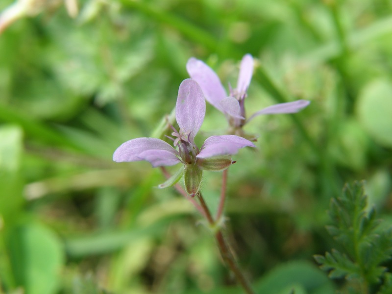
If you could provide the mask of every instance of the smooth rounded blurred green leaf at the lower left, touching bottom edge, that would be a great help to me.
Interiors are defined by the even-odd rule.
[[[60,241],[46,226],[25,223],[7,238],[12,272],[28,294],[52,294],[58,289],[64,256]]]

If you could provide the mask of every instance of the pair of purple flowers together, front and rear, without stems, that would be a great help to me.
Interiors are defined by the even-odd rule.
[[[185,190],[195,196],[201,184],[202,172],[223,171],[231,164],[231,155],[240,148],[255,147],[245,139],[242,127],[254,117],[262,114],[294,113],[309,104],[306,100],[280,103],[255,112],[248,119],[245,116],[244,101],[253,74],[253,58],[246,54],[241,61],[237,88],[229,86],[226,94],[218,75],[205,63],[190,58],[187,71],[191,78],[184,80],[179,89],[175,105],[175,118],[179,130],[172,125],[173,146],[157,138],[137,138],[123,143],[113,154],[117,162],[145,160],[153,167],[181,164],[181,168],[160,188],[172,186],[181,177]],[[201,148],[195,144],[195,136],[205,116],[205,99],[225,114],[230,125],[230,134],[211,136]],[[241,136],[237,136],[239,134]]]

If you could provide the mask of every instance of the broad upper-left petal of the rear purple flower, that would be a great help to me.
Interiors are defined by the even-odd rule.
[[[227,94],[218,75],[204,62],[194,57],[188,60],[187,71],[189,76],[200,85],[206,100],[223,112],[219,102],[221,99],[226,98]]]

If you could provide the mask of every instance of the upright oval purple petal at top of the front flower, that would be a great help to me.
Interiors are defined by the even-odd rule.
[[[205,100],[200,86],[193,79],[182,81],[175,104],[175,118],[181,130],[191,131],[193,140],[205,116]]]

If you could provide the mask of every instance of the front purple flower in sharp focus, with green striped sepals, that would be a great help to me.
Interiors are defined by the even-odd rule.
[[[193,79],[184,80],[175,105],[175,118],[179,131],[172,127],[172,147],[156,138],[137,138],[123,143],[113,154],[116,162],[148,161],[152,167],[172,166],[182,163],[181,168],[160,188],[172,186],[182,175],[189,195],[195,196],[200,188],[202,171],[222,171],[231,164],[230,155],[243,147],[254,144],[235,135],[211,136],[201,148],[195,144],[195,136],[204,121],[205,99],[200,86]]]

